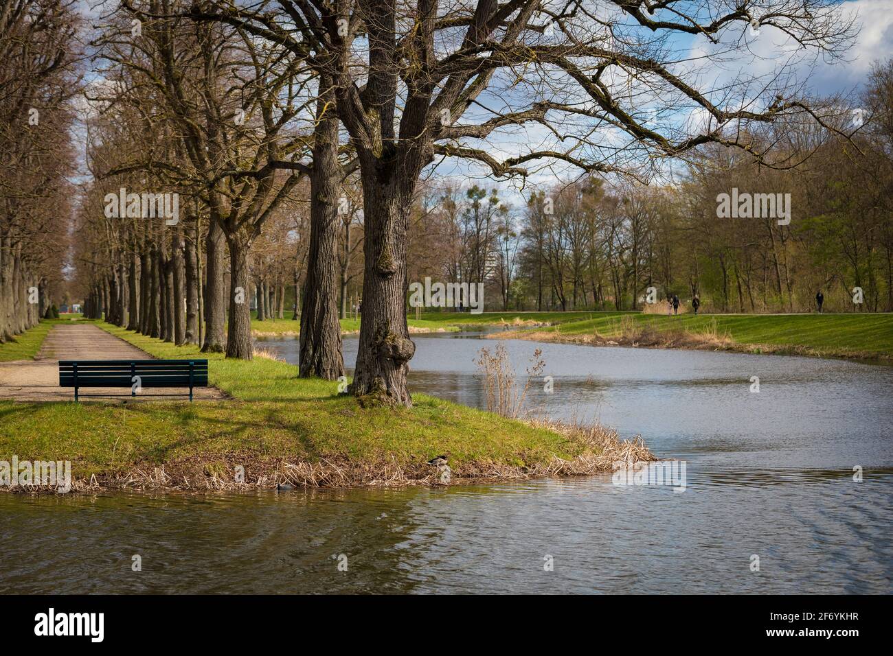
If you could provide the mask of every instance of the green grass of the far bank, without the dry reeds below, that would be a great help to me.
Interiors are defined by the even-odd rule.
[[[643,328],[658,331],[712,331],[729,336],[739,345],[803,347],[815,353],[893,356],[893,314],[712,314],[667,317],[632,315]],[[621,322],[616,314],[578,320],[542,332],[561,336],[618,336]]]

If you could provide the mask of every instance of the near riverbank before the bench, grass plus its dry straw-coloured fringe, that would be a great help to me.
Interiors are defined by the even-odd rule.
[[[0,461],[71,461],[77,490],[230,490],[451,485],[568,476],[653,460],[607,428],[524,423],[413,395],[411,409],[363,409],[338,382],[282,361],[226,360],[97,323],[158,358],[207,357],[225,401],[0,402]],[[4,488],[8,489],[8,488]]]

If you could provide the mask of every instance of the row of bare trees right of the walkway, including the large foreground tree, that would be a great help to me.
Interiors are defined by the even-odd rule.
[[[300,375],[343,373],[338,314],[352,278],[362,279],[351,392],[363,403],[409,405],[405,291],[414,255],[455,250],[445,275],[456,278],[498,270],[505,305],[529,259],[513,263],[520,245],[511,213],[481,189],[454,192],[436,212],[422,203],[421,214],[458,220],[430,227],[447,230],[445,241],[411,238],[411,227],[424,223],[423,173],[448,159],[493,178],[523,178],[541,166],[641,178],[652,158],[711,144],[777,165],[762,147],[773,122],[833,127],[840,108],[809,107],[786,76],[711,87],[696,66],[675,63],[677,36],[711,44],[704,64],[745,48],[741,35],[757,14],[766,29],[831,57],[852,34],[823,0],[110,4],[93,44],[102,64],[88,87],[93,181],[77,231],[89,310],[101,306],[121,325],[250,358],[252,289],[261,290],[262,314],[278,315],[289,271],[296,284],[291,250],[303,269]],[[773,101],[742,108],[736,94]],[[672,118],[696,111],[709,117],[697,129]],[[517,152],[496,146],[531,131],[541,137],[522,138]],[[608,203],[589,184],[594,202]],[[357,197],[343,203],[352,188]],[[115,216],[106,199],[120,189],[176,194],[179,212],[147,218],[151,196]],[[346,220],[353,212],[362,212],[362,236]],[[567,275],[563,260],[545,246],[540,253],[540,303],[559,291],[565,304],[608,297],[581,284],[581,274],[556,285]]]

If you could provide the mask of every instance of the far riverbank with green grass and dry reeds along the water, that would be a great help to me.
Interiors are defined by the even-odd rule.
[[[632,312],[495,312],[474,320],[504,326],[494,336],[539,342],[599,346],[704,349],[739,353],[780,353],[893,362],[893,314],[686,314]],[[562,314],[562,313],[557,313]],[[430,313],[425,319],[436,322]],[[520,326],[513,328],[513,317]],[[444,322],[454,322],[445,315]],[[533,322],[555,325],[526,328]],[[527,323],[523,323],[527,322]]]

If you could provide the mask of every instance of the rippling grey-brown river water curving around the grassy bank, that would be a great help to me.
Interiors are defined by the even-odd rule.
[[[413,339],[411,389],[480,407],[473,359],[496,343]],[[433,490],[0,494],[0,592],[893,592],[893,368],[505,345],[519,371],[543,351],[553,391],[534,381],[532,409],[643,436],[686,462],[685,491],[605,474]],[[294,338],[263,346],[296,362]],[[355,353],[347,338],[345,361]]]

